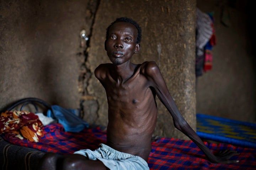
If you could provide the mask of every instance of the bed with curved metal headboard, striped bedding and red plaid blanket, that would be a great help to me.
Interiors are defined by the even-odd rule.
[[[25,98],[12,103],[6,111],[32,103],[42,105],[47,109],[51,106],[37,98]],[[33,106],[33,107],[34,107]],[[36,107],[34,107],[36,108]],[[24,109],[24,108],[22,108]],[[21,109],[21,110],[22,110]],[[37,109],[36,109],[37,110]],[[37,112],[37,111],[35,111]],[[45,113],[44,113],[45,114]],[[67,132],[63,124],[53,121],[42,127],[43,137],[38,142],[20,139],[8,133],[0,135],[0,166],[1,169],[35,169],[46,152],[71,154],[79,149],[96,149],[98,144],[106,141],[106,129],[103,126],[89,125],[79,132]],[[231,149],[240,153],[232,159],[240,160],[236,164],[210,163],[195,143],[176,138],[152,138],[152,151],[149,155],[148,165],[150,170],[252,170],[256,167],[256,149],[231,145],[228,143],[204,142],[213,152]]]

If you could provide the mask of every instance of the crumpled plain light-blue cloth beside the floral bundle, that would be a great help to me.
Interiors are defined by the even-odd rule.
[[[89,127],[89,123],[78,117],[77,109],[66,109],[53,105],[52,110],[53,113],[50,109],[47,111],[47,117],[57,119],[67,132],[80,132]]]

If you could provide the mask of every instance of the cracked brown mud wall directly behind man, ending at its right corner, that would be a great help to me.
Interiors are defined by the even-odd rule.
[[[188,0],[1,1],[0,108],[24,97],[65,108],[81,103],[85,120],[106,125],[105,91],[92,73],[109,62],[103,46],[106,27],[127,16],[143,29],[142,48],[133,62],[159,64],[181,113],[195,129],[195,6],[196,1]],[[89,37],[83,47],[81,29]],[[158,108],[155,135],[181,137],[159,101]]]

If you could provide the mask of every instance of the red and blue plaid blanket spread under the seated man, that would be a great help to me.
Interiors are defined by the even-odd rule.
[[[96,149],[98,144],[106,141],[106,132],[101,128],[84,129],[81,132],[65,132],[60,124],[44,126],[44,137],[41,142],[20,140],[14,136],[2,137],[12,144],[36,148],[45,152],[70,154],[80,149]],[[240,153],[232,159],[240,160],[237,164],[213,164],[206,160],[203,152],[192,141],[178,140],[174,138],[160,138],[152,142],[152,151],[149,155],[150,170],[252,170],[256,167],[256,149],[235,147],[228,144],[205,144],[212,151],[224,149],[236,150]]]

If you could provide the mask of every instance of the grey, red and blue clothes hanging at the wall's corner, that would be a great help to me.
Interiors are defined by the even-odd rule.
[[[196,77],[212,69],[212,47],[216,45],[213,13],[196,9]]]

